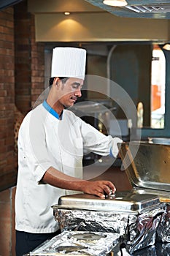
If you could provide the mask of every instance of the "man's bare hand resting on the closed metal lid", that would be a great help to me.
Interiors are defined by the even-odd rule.
[[[90,195],[105,198],[105,195],[114,194],[116,188],[111,181],[85,181],[82,191]]]

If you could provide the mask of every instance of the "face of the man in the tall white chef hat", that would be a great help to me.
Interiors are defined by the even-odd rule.
[[[77,98],[82,96],[83,81],[80,78],[68,78],[66,81],[58,80],[58,103],[65,108],[72,107]]]

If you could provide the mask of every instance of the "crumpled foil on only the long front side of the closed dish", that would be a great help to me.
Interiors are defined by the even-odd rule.
[[[86,211],[54,208],[55,220],[61,231],[98,231],[125,234],[127,223],[135,223],[136,215],[115,214],[111,211]]]

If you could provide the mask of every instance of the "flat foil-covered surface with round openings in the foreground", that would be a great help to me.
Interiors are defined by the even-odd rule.
[[[115,244],[117,244],[119,235],[116,233],[92,233],[93,235],[99,235],[101,238],[97,240],[88,240],[83,239],[83,234],[87,232],[81,231],[63,231],[58,236],[55,236],[50,241],[47,241],[45,244],[40,246],[38,249],[35,249],[34,252],[30,252],[30,256],[38,256],[38,255],[90,255],[90,256],[106,256],[109,255],[109,252],[112,251]],[[82,240],[75,238],[72,235],[82,234]],[[60,250],[59,248],[70,248],[72,246],[76,246],[78,250],[67,252],[66,249]],[[69,246],[69,247],[67,247]],[[84,247],[84,249],[82,249]],[[80,248],[80,249],[79,249]]]

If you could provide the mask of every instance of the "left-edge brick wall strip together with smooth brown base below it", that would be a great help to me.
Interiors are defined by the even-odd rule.
[[[13,8],[0,12],[0,188],[16,179],[14,156],[15,56]],[[0,255],[12,250],[12,209],[9,189],[0,193]]]

